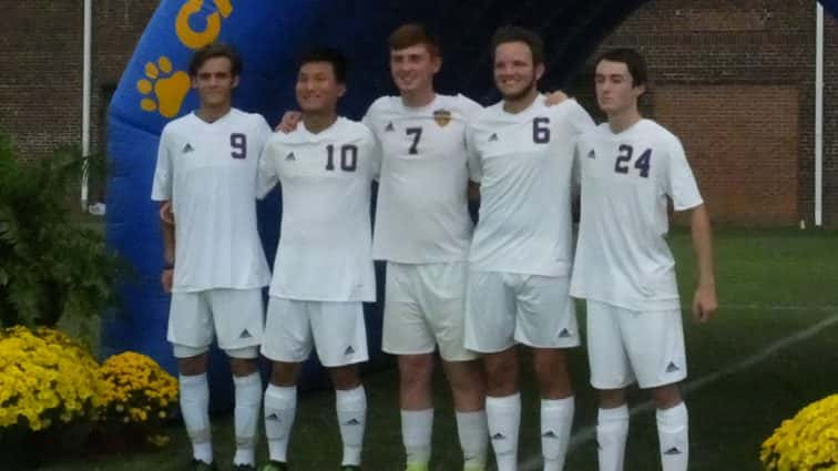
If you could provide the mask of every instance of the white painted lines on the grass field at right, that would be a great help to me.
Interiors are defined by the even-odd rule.
[[[763,305],[754,304],[754,305],[725,305],[723,307],[728,308],[728,309],[766,309],[766,310],[828,310],[828,311],[838,310],[838,306],[763,306]],[[795,344],[798,344],[803,340],[814,337],[818,335],[820,331],[822,331],[824,329],[835,324],[838,324],[838,314],[834,314],[832,316],[827,317],[826,319],[819,321],[818,324],[815,324],[810,327],[799,330],[796,334],[793,334],[790,336],[784,337],[768,345],[763,350],[736,364],[733,364],[728,366],[727,368],[718,370],[714,372],[713,375],[703,376],[701,378],[696,378],[693,381],[688,381],[683,386],[682,390],[685,393],[693,392],[701,388],[704,388],[705,386],[717,382],[725,377],[748,370],[753,368],[755,365],[765,361],[766,359],[768,359],[768,357],[773,356],[774,354],[777,354],[778,351],[784,350]],[[654,409],[654,406],[652,401],[646,401],[631,408],[628,410],[628,413],[631,416],[636,416],[640,413],[652,411],[653,409]],[[593,426],[583,427],[571,437],[568,451],[570,452],[594,439],[596,439],[596,426],[593,424]],[[527,460],[524,460],[521,463],[519,469],[521,471],[535,471],[540,469],[541,465],[542,465],[541,457],[535,455],[535,457],[530,457]]]

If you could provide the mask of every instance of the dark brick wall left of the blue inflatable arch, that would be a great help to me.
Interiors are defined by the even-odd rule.
[[[102,92],[116,85],[157,1],[96,0],[92,147],[102,147]],[[0,16],[0,132],[24,158],[81,143],[83,2],[27,0]]]

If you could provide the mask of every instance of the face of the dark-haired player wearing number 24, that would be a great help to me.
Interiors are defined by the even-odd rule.
[[[637,99],[646,91],[645,85],[634,85],[634,78],[625,62],[601,60],[594,75],[596,103],[609,116],[617,116],[636,110]]]

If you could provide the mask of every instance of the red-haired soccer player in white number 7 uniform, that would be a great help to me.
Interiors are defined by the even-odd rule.
[[[381,143],[374,256],[387,262],[382,349],[397,355],[401,437],[408,471],[427,471],[431,454],[435,350],[457,413],[463,470],[483,471],[488,451],[484,380],[463,346],[470,173],[466,123],[482,106],[433,90],[442,58],[420,24],[388,39],[400,96],[382,96],[364,122]]]

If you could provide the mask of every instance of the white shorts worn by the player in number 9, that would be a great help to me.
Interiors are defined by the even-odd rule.
[[[205,352],[213,337],[236,358],[256,358],[264,319],[262,288],[173,293],[166,339],[177,358]]]

